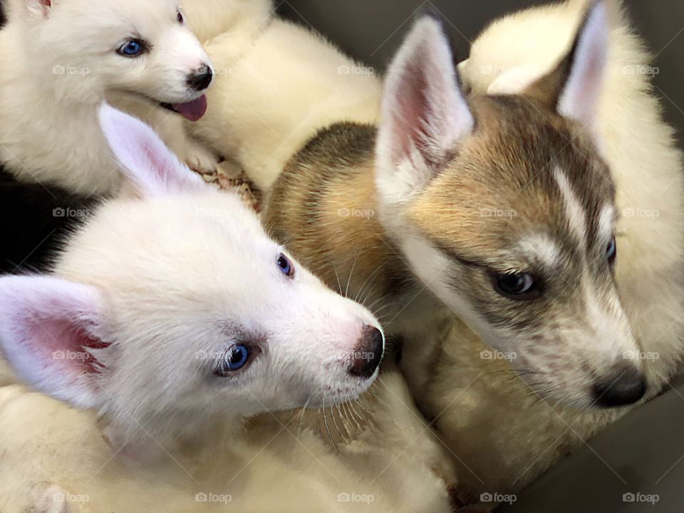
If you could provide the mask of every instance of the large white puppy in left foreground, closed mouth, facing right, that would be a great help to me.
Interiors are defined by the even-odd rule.
[[[96,209],[53,275],[0,279],[11,366],[90,409],[2,390],[3,512],[317,512],[347,502],[449,511],[450,466],[398,373],[384,375],[382,415],[340,447],[343,457],[273,415],[247,434],[232,429],[258,413],[356,398],[378,373],[378,323],[149,128],[107,106],[102,119],[135,197]],[[184,445],[172,443],[179,437]],[[140,441],[173,459],[132,461],[130,446],[122,457],[118,442],[131,441],[136,455]]]

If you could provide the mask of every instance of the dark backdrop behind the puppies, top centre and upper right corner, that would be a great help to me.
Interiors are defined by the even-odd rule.
[[[660,69],[655,92],[666,115],[684,133],[684,1],[624,0],[638,31],[646,38]],[[3,21],[0,0],[0,24]],[[457,58],[494,17],[544,0],[284,0],[281,14],[313,26],[343,50],[383,69],[410,26],[412,14],[432,7],[445,18]]]

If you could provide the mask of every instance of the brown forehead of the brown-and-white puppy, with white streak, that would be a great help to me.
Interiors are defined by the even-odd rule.
[[[475,133],[411,205],[411,221],[465,258],[509,253],[529,234],[562,249],[611,232],[610,172],[573,122],[520,96],[480,97],[471,106]]]

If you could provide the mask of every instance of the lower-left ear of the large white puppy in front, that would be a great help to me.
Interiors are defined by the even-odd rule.
[[[0,348],[16,375],[79,408],[100,404],[103,306],[90,286],[43,276],[0,279]]]

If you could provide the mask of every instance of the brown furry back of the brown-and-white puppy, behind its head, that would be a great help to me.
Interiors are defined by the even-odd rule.
[[[264,224],[333,289],[377,306],[404,291],[408,281],[376,215],[374,145],[370,125],[338,123],[321,130],[286,166]]]

